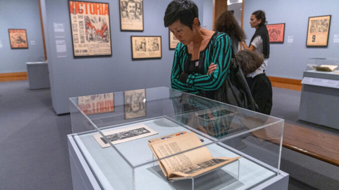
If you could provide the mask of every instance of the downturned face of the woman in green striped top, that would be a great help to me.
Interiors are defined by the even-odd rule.
[[[173,32],[173,35],[182,44],[189,44],[194,36],[194,30],[191,30],[188,26],[181,24],[180,20],[177,19],[171,25],[168,26],[169,30]]]

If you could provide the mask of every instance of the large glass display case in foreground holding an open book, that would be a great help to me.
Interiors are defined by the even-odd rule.
[[[287,189],[282,119],[166,87],[70,98],[70,116],[73,186]]]

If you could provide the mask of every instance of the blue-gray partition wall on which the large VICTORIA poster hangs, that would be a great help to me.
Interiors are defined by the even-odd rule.
[[[57,114],[68,113],[68,98],[170,85],[173,50],[168,48],[168,28],[163,14],[170,0],[144,0],[143,32],[121,32],[117,0],[108,2],[112,43],[111,57],[73,58],[67,0],[41,0],[52,104]],[[194,0],[203,18],[203,0]],[[64,32],[55,32],[63,24]],[[203,23],[201,23],[203,24]],[[131,35],[161,35],[162,58],[131,60]],[[66,52],[56,52],[55,40],[65,40]]]

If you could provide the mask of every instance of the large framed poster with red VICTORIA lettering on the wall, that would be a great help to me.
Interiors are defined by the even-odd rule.
[[[73,56],[112,55],[108,3],[69,0]]]

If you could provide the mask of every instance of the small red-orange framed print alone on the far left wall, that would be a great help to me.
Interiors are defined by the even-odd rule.
[[[8,29],[10,48],[28,48],[26,29]]]

